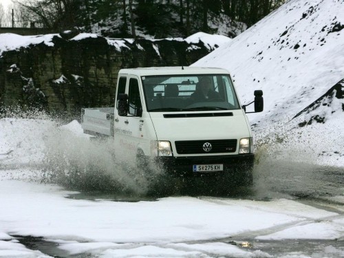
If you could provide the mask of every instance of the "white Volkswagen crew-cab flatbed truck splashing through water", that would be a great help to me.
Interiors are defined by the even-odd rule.
[[[262,95],[255,91],[255,112],[263,110]],[[252,184],[247,105],[226,69],[121,69],[115,101],[115,107],[82,109],[81,125],[84,133],[113,138],[116,158],[142,169],[156,162],[166,173],[226,175]]]

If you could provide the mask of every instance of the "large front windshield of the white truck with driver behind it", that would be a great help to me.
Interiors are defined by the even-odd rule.
[[[142,76],[147,111],[239,109],[228,74]]]

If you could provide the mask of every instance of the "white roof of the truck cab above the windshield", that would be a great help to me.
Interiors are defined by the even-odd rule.
[[[215,67],[140,67],[120,69],[119,74],[133,74],[136,76],[154,76],[154,75],[180,75],[180,74],[229,74],[226,69]]]

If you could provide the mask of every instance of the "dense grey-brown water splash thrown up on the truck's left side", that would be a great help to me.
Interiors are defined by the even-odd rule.
[[[69,189],[146,195],[164,173],[158,166],[136,166],[136,160],[118,162],[114,140],[90,140],[62,127],[45,139],[45,177]]]

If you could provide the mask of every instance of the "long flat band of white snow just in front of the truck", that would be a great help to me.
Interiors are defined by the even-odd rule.
[[[304,216],[294,217],[276,210],[273,213],[257,211],[259,202],[252,202],[252,208],[247,208],[231,202],[219,205],[211,200],[191,197],[168,197],[158,202],[132,204],[74,201],[66,199],[66,193],[53,185],[6,180],[0,184],[0,194],[8,197],[0,201],[1,219],[7,221],[0,228],[14,235],[115,243],[184,242],[228,237],[304,219]],[[13,192],[11,189],[17,190]],[[274,201],[270,202],[270,206],[273,205]],[[17,213],[19,206],[25,212]],[[74,236],[72,239],[71,235]]]

